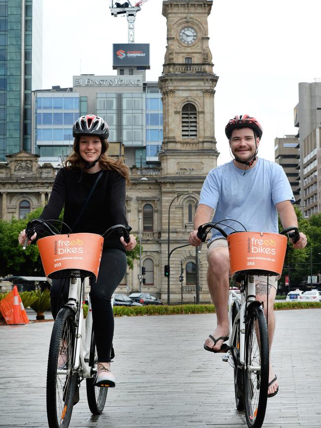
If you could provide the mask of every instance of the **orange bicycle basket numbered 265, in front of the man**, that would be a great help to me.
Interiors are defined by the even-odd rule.
[[[287,238],[278,233],[238,232],[227,237],[231,274],[281,275]]]

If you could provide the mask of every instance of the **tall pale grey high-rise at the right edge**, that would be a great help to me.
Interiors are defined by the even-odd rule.
[[[321,133],[321,80],[299,83],[299,103],[294,108],[300,155],[300,203],[305,216],[318,213],[317,152]]]

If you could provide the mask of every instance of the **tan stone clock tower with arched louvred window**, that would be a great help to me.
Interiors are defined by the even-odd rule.
[[[203,176],[216,167],[213,73],[208,46],[210,0],[165,0],[167,46],[159,87],[163,102],[162,175]]]

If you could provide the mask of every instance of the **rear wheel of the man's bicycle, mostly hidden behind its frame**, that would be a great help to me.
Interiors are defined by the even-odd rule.
[[[240,303],[235,301],[232,307],[232,322],[240,310]],[[234,364],[234,389],[235,403],[238,410],[244,410],[244,385],[243,370],[240,368],[240,321],[237,324],[235,336],[233,339],[233,364]]]

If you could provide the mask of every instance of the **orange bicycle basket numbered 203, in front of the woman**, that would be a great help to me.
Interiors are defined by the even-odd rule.
[[[48,278],[95,276],[104,238],[95,233],[46,236],[38,240],[41,262]]]

